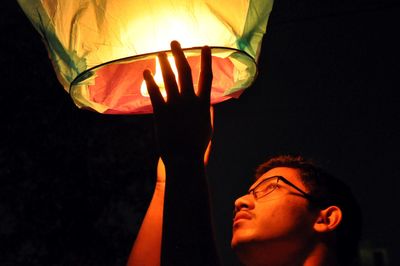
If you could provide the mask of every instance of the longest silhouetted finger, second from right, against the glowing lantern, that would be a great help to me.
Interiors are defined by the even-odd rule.
[[[181,88],[182,95],[195,96],[192,72],[179,42],[172,41],[171,50],[172,54],[174,55],[176,68],[179,73],[179,87]]]

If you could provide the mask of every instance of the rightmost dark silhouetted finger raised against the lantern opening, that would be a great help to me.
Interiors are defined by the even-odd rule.
[[[211,49],[208,46],[204,46],[201,49],[201,71],[198,95],[201,99],[207,102],[210,102],[212,79]]]

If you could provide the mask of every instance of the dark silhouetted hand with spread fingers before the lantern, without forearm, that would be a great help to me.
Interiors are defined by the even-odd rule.
[[[197,94],[193,87],[190,66],[177,41],[171,43],[179,80],[168,62],[167,55],[158,55],[163,74],[166,101],[149,70],[143,73],[154,110],[160,153],[167,164],[182,158],[203,158],[209,144],[212,126],[210,91],[212,83],[211,51],[204,46],[201,53],[201,73]]]

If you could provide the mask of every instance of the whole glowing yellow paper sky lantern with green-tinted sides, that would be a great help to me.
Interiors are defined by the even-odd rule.
[[[201,46],[211,47],[212,104],[239,97],[256,77],[272,2],[18,0],[74,103],[105,114],[152,112],[142,73],[151,69],[163,86],[156,55],[172,40],[184,48],[195,85]]]

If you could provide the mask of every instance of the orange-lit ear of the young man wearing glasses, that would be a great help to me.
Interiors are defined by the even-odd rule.
[[[329,206],[319,211],[314,223],[317,232],[329,232],[335,230],[342,221],[342,210],[337,206]]]

